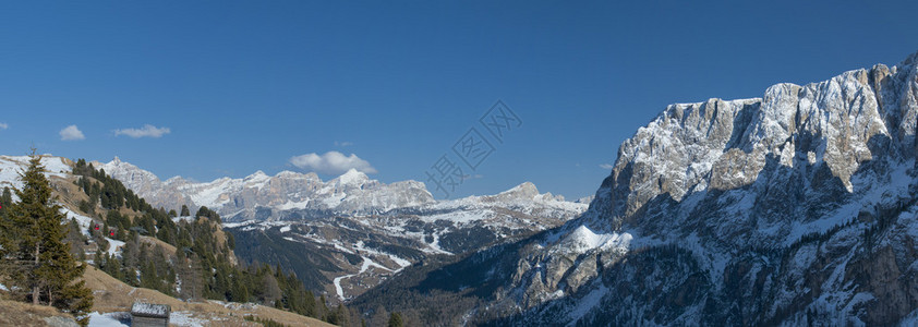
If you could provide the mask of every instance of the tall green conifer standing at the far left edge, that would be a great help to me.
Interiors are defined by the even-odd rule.
[[[8,241],[10,247],[4,246],[14,259],[11,284],[29,292],[26,298],[33,304],[44,301],[81,317],[85,325],[93,295],[82,281],[74,281],[86,267],[71,256],[70,245],[63,242],[67,216],[55,204],[45,171],[41,157],[33,149],[28,168],[20,173],[23,187],[14,190],[20,202],[10,205],[9,219],[4,219],[3,233],[15,235]]]

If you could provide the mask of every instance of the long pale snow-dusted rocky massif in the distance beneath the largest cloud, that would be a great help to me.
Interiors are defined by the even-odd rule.
[[[422,182],[384,184],[355,170],[328,182],[313,172],[281,171],[271,177],[257,171],[242,179],[221,178],[198,183],[181,177],[162,182],[149,171],[118,158],[108,164],[93,164],[154,206],[206,206],[225,221],[280,220],[289,210],[306,216],[372,215],[434,203]]]

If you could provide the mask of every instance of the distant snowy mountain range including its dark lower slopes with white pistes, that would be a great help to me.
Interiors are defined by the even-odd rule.
[[[155,207],[216,210],[243,261],[281,263],[311,288],[347,300],[415,263],[514,241],[580,216],[588,204],[522,183],[495,195],[436,201],[424,183],[385,184],[350,170],[255,172],[243,179],[165,182],[114,158],[94,167]],[[295,249],[294,251],[291,251]]]

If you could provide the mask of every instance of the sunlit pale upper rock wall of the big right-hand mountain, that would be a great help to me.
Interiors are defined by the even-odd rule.
[[[914,65],[877,65],[777,84],[762,98],[672,105],[621,144],[599,192],[608,206],[597,214],[624,218],[660,195],[681,202],[709,187],[747,186],[769,161],[806,178],[816,170],[800,168],[824,165],[853,192],[851,175],[873,150],[914,157],[915,87]]]

